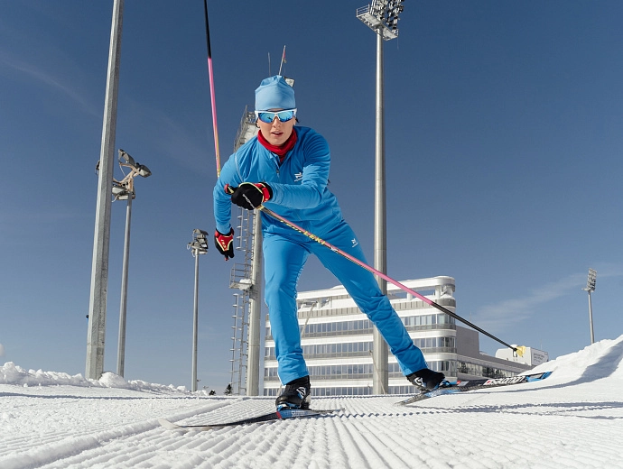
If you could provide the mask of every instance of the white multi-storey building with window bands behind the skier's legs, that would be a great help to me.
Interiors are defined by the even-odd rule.
[[[401,283],[452,312],[456,309],[455,282],[451,277],[404,280]],[[387,297],[414,344],[422,349],[429,368],[443,372],[448,379],[514,376],[537,364],[527,363],[512,353],[500,353],[499,357],[481,354],[478,332],[458,326],[454,318],[392,284],[387,285]],[[371,394],[375,367],[372,324],[350,299],[346,289],[340,285],[328,290],[301,291],[297,306],[312,395]],[[539,352],[531,349],[530,357],[547,355]],[[416,391],[400,372],[391,353],[388,371],[387,393]],[[266,318],[264,395],[276,396],[280,388],[274,340]]]

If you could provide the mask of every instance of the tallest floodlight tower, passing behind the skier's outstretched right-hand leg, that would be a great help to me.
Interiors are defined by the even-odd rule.
[[[375,255],[374,267],[386,272],[386,189],[385,189],[385,109],[383,96],[383,41],[398,37],[398,15],[404,10],[404,0],[373,0],[358,8],[357,17],[377,34],[377,97],[376,97],[376,175],[375,175]],[[377,278],[381,291],[387,293],[386,280]],[[372,360],[375,363],[372,391],[388,391],[387,345],[378,329],[374,329]]]

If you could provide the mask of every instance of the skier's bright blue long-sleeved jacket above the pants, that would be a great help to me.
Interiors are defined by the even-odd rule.
[[[231,228],[231,196],[225,185],[238,186],[242,182],[266,182],[273,189],[273,197],[264,206],[287,220],[303,224],[305,229],[319,233],[342,219],[337,198],[327,188],[329,182],[329,144],[309,127],[295,126],[297,140],[293,149],[279,164],[279,157],[259,143],[257,137],[237,149],[220,171],[214,187],[214,217],[220,233]],[[281,222],[262,214],[263,230],[274,231]]]

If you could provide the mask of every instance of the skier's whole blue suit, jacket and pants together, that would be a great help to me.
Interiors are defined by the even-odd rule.
[[[328,143],[309,127],[297,125],[293,132],[297,133],[297,142],[283,162],[257,137],[229,157],[214,188],[217,229],[229,233],[231,228],[231,197],[225,192],[226,184],[236,187],[242,182],[266,182],[273,189],[273,197],[264,204],[266,208],[366,262],[357,236],[342,217],[337,198],[327,188]],[[377,326],[405,375],[426,368],[422,351],[414,345],[371,272],[279,220],[263,212],[261,216],[265,301],[282,383],[309,374],[302,355],[296,284],[310,253],[337,277],[358,308]]]

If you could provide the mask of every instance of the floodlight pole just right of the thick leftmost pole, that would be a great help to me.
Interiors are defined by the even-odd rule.
[[[124,179],[113,179],[113,196],[115,200],[127,200],[126,238],[124,244],[124,264],[121,275],[121,305],[119,306],[119,341],[116,353],[116,374],[123,376],[126,367],[126,311],[127,311],[127,268],[130,258],[130,222],[132,219],[132,199],[136,198],[135,177],[148,178],[152,175],[143,164],[135,162],[129,154],[119,149],[119,167],[129,168],[130,172]]]

